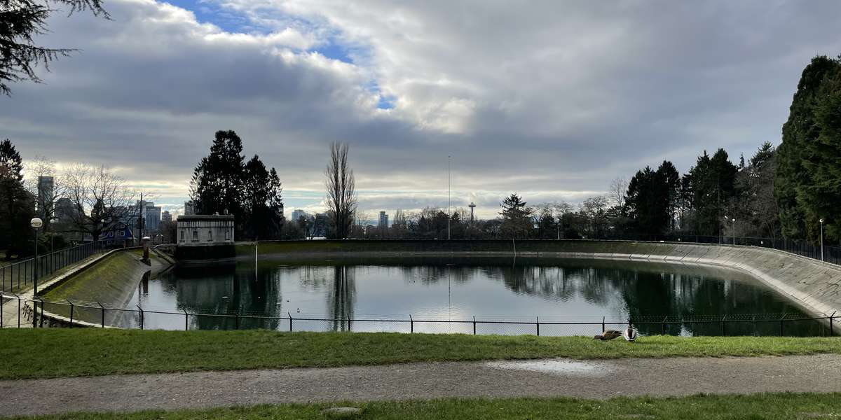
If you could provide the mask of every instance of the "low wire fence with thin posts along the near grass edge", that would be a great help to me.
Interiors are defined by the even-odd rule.
[[[360,331],[394,333],[466,333],[545,336],[593,336],[628,323],[643,335],[806,336],[838,335],[836,312],[821,317],[796,314],[725,316],[646,316],[621,320],[558,317],[428,318],[404,316],[319,316],[299,313],[204,312],[194,309],[114,307],[100,302],[20,297],[0,293],[0,325],[23,327],[138,328],[169,330],[273,329],[278,331]]]

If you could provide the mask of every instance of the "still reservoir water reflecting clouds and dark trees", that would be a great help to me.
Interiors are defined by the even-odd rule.
[[[475,316],[479,320],[533,322],[540,317],[541,322],[600,322],[602,317],[619,321],[666,315],[802,315],[775,291],[736,271],[596,260],[262,260],[257,273],[253,261],[241,260],[235,265],[177,266],[142,281],[133,299],[130,307],[139,304],[147,311],[240,312],[277,318],[409,320],[411,315],[415,320],[471,320]],[[184,318],[148,313],[145,327],[182,329]],[[122,320],[124,325],[136,322],[131,317]],[[237,324],[240,328],[289,328],[288,319],[188,317],[188,323],[189,328],[202,329],[236,328]],[[343,322],[294,323],[295,330],[347,329]],[[472,332],[472,324],[418,327],[431,332]],[[706,327],[714,333],[719,325],[666,326],[669,333],[683,334],[704,333]],[[409,328],[408,323],[359,322],[352,326],[353,330],[406,332]],[[484,332],[534,333],[533,325],[493,328]],[[557,333],[566,333],[560,331],[564,328],[583,333],[592,329],[574,325],[541,328],[544,333],[551,333],[551,328]]]

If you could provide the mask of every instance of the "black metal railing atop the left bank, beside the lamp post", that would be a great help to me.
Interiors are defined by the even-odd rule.
[[[35,279],[52,276],[57,270],[77,263],[91,255],[105,250],[105,244],[87,242],[65,249],[59,249],[38,258],[15,261],[0,266],[0,291],[20,291],[31,286]]]

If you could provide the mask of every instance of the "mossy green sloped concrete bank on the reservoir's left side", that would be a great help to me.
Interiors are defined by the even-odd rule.
[[[125,307],[134,296],[140,281],[155,276],[171,264],[160,255],[150,253],[150,261],[143,262],[141,249],[121,249],[110,253],[103,259],[93,262],[72,273],[62,281],[50,284],[40,296],[44,297],[45,312],[56,318],[68,318],[70,306],[59,304],[71,300],[75,302],[102,302],[106,307]],[[101,324],[101,311],[93,305],[74,307],[74,321]],[[123,312],[109,311],[106,325],[119,325]]]

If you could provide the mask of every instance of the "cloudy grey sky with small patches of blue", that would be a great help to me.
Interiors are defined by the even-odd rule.
[[[37,41],[77,48],[0,97],[0,138],[108,165],[180,211],[232,129],[323,210],[328,144],[350,144],[370,213],[502,197],[580,202],[704,150],[780,143],[800,73],[841,53],[841,3],[105,0]]]

